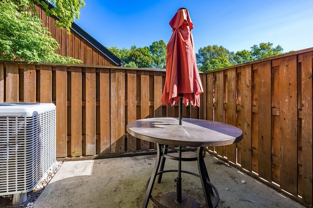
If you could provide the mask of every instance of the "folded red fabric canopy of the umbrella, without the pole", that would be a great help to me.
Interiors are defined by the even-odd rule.
[[[202,83],[196,61],[194,28],[186,8],[180,8],[170,21],[172,37],[166,46],[166,77],[161,102],[172,106],[183,96],[183,103],[200,106]]]

